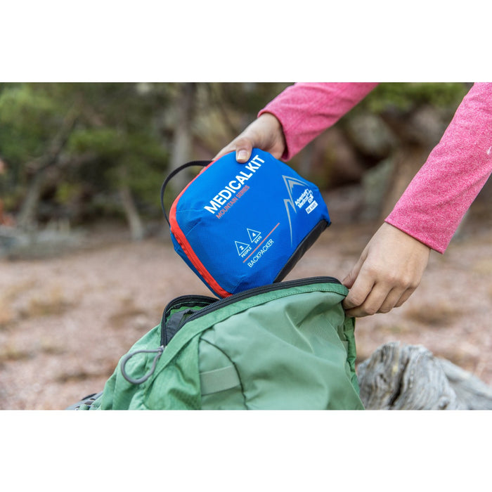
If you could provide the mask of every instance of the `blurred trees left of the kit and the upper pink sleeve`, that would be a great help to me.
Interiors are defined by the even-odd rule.
[[[167,171],[211,158],[286,85],[1,84],[2,197],[23,228],[121,214],[142,238]]]

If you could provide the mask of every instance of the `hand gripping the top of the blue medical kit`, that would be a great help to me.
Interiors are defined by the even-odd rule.
[[[238,162],[247,162],[251,157],[253,147],[271,153],[276,159],[280,159],[284,153],[285,138],[282,125],[269,112],[264,112],[255,119],[254,122],[246,127],[242,134],[226,145],[213,160],[235,151],[235,159]]]

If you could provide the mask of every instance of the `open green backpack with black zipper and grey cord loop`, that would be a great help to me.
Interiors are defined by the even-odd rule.
[[[177,297],[79,410],[363,409],[347,288],[331,277]]]

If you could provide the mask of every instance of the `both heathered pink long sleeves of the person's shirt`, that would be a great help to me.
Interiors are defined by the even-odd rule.
[[[284,160],[302,150],[372,91],[373,83],[298,83],[259,112],[283,127]],[[444,253],[492,172],[492,84],[467,93],[422,168],[385,221]]]

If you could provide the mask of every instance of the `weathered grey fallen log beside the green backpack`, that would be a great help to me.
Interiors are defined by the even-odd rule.
[[[492,387],[420,345],[384,344],[357,373],[367,410],[492,410]]]

